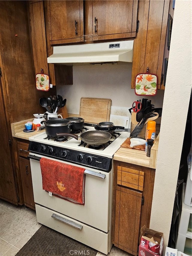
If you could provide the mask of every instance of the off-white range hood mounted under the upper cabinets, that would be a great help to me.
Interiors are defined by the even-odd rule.
[[[134,40],[53,46],[53,54],[47,62],[65,65],[127,64],[133,60],[133,43]]]

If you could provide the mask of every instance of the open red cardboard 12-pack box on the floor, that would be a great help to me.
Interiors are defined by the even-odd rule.
[[[161,256],[163,245],[163,233],[145,226],[141,228],[139,256]]]

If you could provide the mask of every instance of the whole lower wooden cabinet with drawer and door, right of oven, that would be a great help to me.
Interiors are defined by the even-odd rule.
[[[112,243],[137,255],[141,227],[149,228],[155,170],[114,161]]]

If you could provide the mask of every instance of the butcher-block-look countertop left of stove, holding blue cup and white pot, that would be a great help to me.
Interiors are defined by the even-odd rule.
[[[32,131],[32,132],[24,132],[23,130],[25,129],[25,123],[26,122],[32,122],[34,118],[32,119],[27,119],[24,121],[16,122],[11,124],[11,132],[12,136],[23,139],[23,140],[29,140],[29,137],[32,137],[33,135],[39,134],[42,131]]]

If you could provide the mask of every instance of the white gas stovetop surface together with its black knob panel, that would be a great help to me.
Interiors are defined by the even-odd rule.
[[[85,128],[88,131],[95,131],[93,126],[85,126]],[[110,142],[102,145],[99,149],[95,149],[89,148],[81,140],[72,137],[67,137],[67,141],[59,142],[55,141],[55,138],[47,137],[46,132],[41,132],[29,138],[29,151],[42,156],[110,171],[113,155],[127,137],[129,137],[127,131],[112,134]]]

